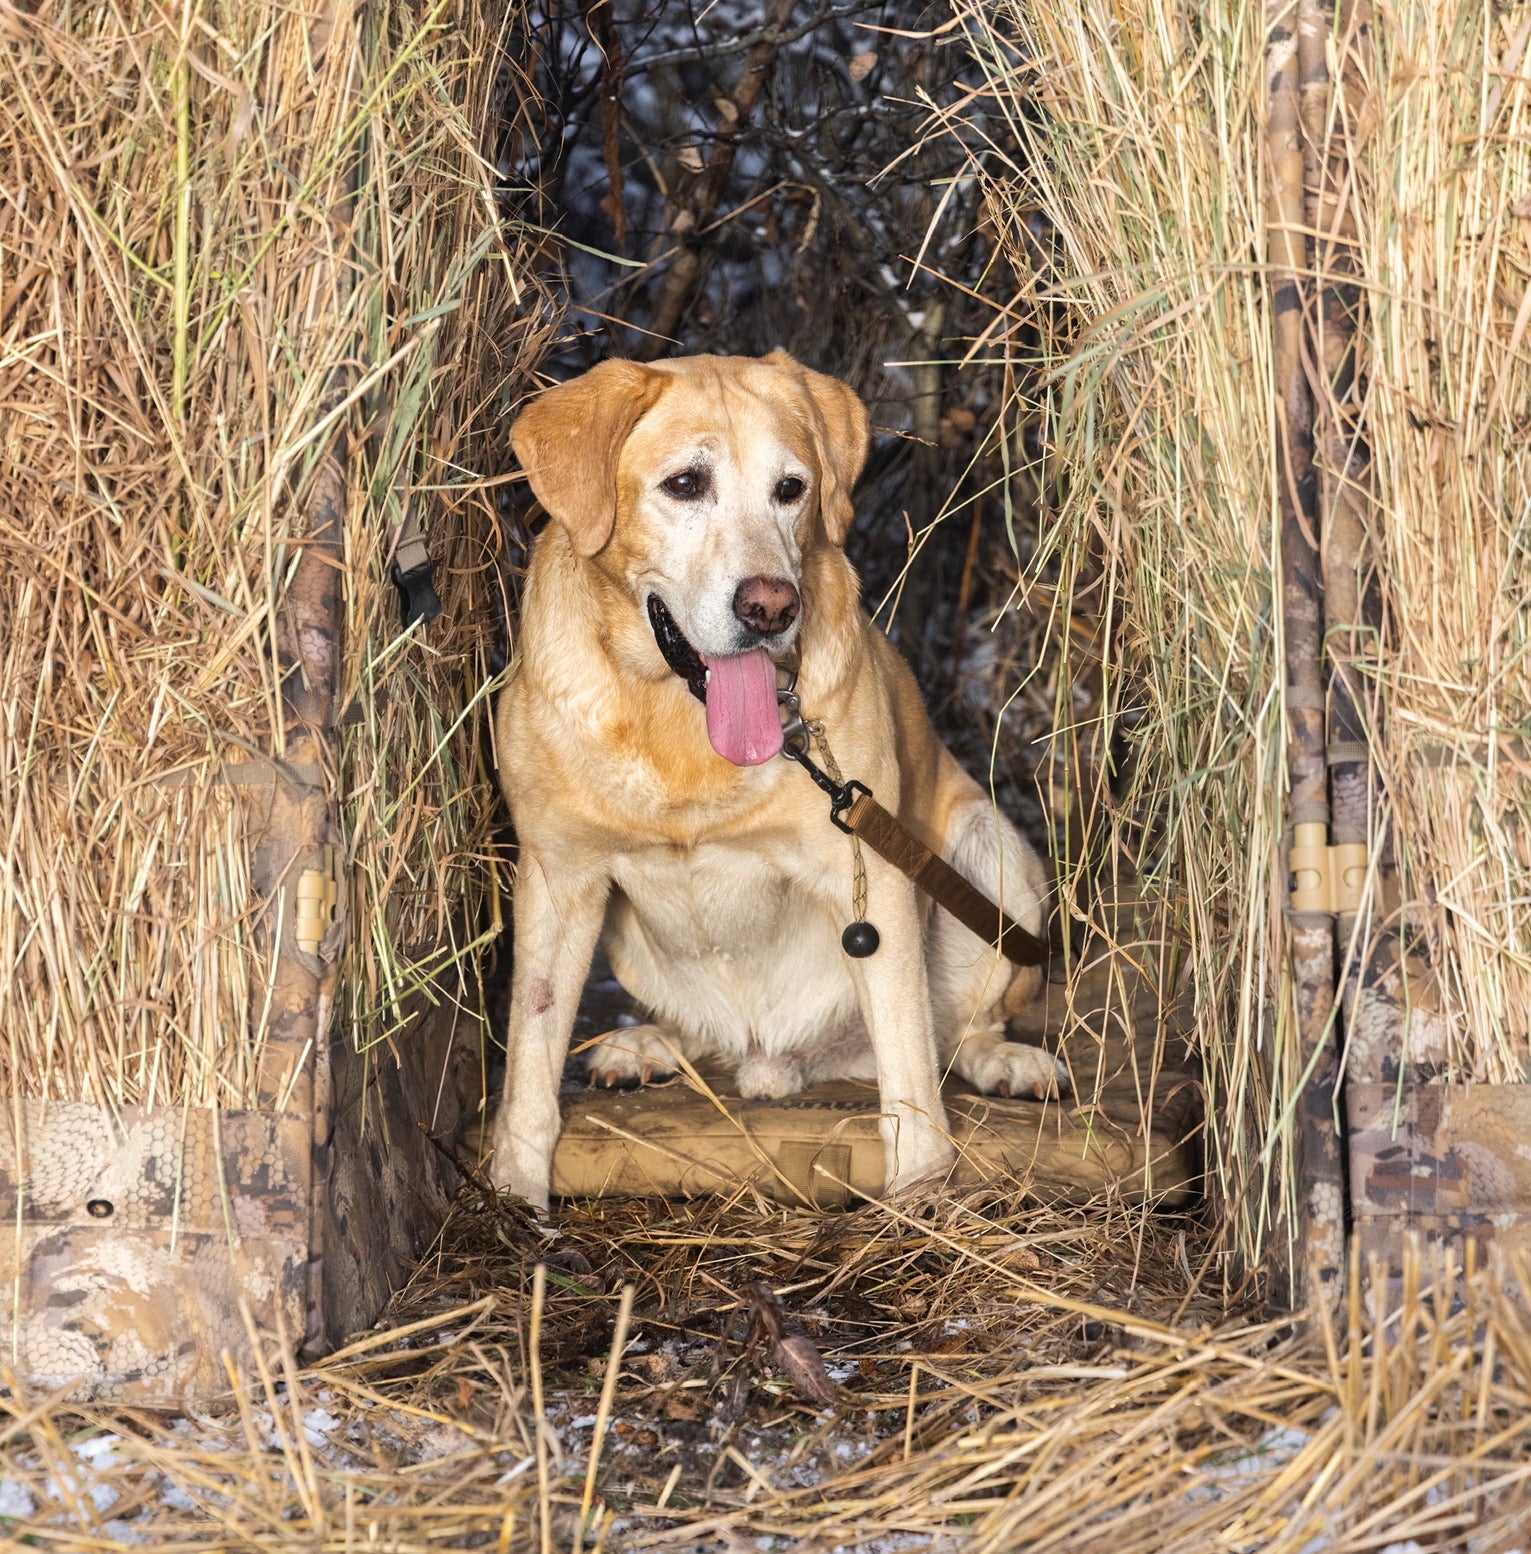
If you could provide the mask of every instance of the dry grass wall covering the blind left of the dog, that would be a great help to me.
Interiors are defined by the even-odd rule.
[[[306,503],[342,460],[333,789],[359,1044],[494,894],[496,395],[544,325],[504,244],[483,8],[0,11],[0,1069],[12,1096],[253,1105],[252,772]],[[409,508],[446,611],[399,636]]]

